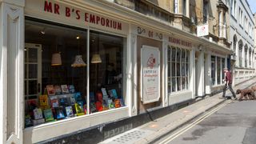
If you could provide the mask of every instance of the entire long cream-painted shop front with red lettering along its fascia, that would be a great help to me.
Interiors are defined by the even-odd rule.
[[[114,3],[2,0],[0,5],[2,143],[42,142],[185,102],[222,86],[223,66],[218,63],[226,66],[230,50]],[[61,66],[53,66],[55,53]],[[93,62],[94,54],[101,60]],[[82,55],[86,66],[75,67],[76,55]],[[68,107],[65,99],[71,102],[74,93],[51,95],[51,85],[73,85],[75,103],[82,95],[86,111],[26,125],[34,114],[28,106],[31,99],[41,105],[41,95],[47,95],[53,113],[59,109],[52,107],[52,99]],[[114,106],[99,104],[104,89]],[[40,108],[43,113],[47,106]]]

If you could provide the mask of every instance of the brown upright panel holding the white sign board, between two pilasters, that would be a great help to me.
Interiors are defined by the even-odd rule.
[[[140,37],[138,36],[138,41],[137,41],[137,62],[138,62],[138,97],[137,97],[137,102],[138,102],[138,114],[143,114],[143,113],[147,113],[148,111],[150,111],[151,109],[158,109],[158,108],[162,108],[162,42],[159,42],[159,41],[156,41],[156,40],[153,40],[153,39],[150,39],[150,38],[143,38],[143,37]],[[145,59],[144,56],[142,56],[143,54],[142,53],[145,53],[145,47],[147,48],[150,48],[150,49],[146,49],[146,51],[150,52],[148,54],[149,57]],[[153,50],[153,51],[151,51]],[[144,51],[144,52],[143,52]],[[155,55],[155,52],[158,51],[159,53],[159,56],[156,56]],[[146,52],[147,53],[147,52]],[[153,61],[148,61],[151,59],[151,53],[154,55]],[[144,58],[144,59],[143,59]],[[159,58],[159,62],[157,62]],[[143,83],[145,83],[145,77],[144,77],[144,81],[143,81],[143,78],[142,78],[142,64],[143,63],[147,63],[147,62],[153,62],[155,64],[158,63],[158,67],[159,67],[159,73],[158,73],[158,76],[155,77],[155,78],[149,78],[148,82],[150,83],[150,86],[152,87],[149,87],[149,85],[147,86],[142,86]],[[144,66],[145,68],[145,66]],[[154,69],[155,69],[155,66],[154,66]],[[149,70],[148,74],[152,74],[151,72],[154,72],[154,69],[152,69],[153,71]],[[154,75],[154,74],[153,74]],[[144,75],[145,76],[145,75]],[[160,82],[158,83],[157,87],[155,87],[156,89],[154,89],[154,82],[151,82],[151,80],[157,80],[158,78],[160,78]],[[146,80],[147,81],[147,80]],[[159,90],[158,90],[158,86],[159,86]],[[152,88],[152,89],[151,89]],[[144,91],[143,91],[144,90]],[[147,90],[147,91],[145,91]],[[158,92],[156,92],[155,90],[157,90]],[[150,92],[149,92],[150,91]],[[159,94],[160,97],[157,98],[157,97],[147,97],[146,99],[143,98],[143,93],[144,95],[147,93],[150,93],[152,94],[152,96],[154,96],[154,92],[156,92],[155,94]],[[151,93],[152,92],[152,93]],[[149,96],[149,95],[147,95]],[[143,102],[144,100],[144,102]],[[146,102],[146,101],[147,102]],[[152,100],[152,101],[150,101]]]

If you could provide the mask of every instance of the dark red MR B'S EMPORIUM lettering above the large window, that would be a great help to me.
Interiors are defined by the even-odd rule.
[[[82,20],[83,22],[90,22],[95,25],[105,26],[115,30],[122,30],[122,22],[114,21],[110,18],[104,18],[96,14],[90,14],[78,10],[76,8],[71,8],[68,6],[61,6],[58,3],[45,1],[44,11],[57,15],[65,15],[66,18],[74,17],[77,20]]]

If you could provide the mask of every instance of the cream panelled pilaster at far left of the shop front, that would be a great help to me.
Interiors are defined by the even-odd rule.
[[[24,0],[0,0],[0,143],[22,143]]]

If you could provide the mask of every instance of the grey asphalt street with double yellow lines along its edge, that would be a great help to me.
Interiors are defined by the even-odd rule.
[[[226,100],[193,122],[154,143],[169,144],[254,144],[256,101]]]

